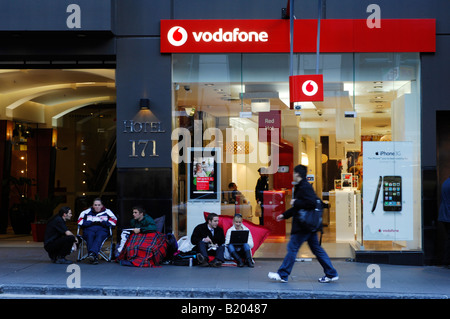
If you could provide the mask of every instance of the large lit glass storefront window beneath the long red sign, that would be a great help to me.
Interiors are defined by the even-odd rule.
[[[294,74],[315,74],[316,61],[296,54]],[[178,236],[202,222],[202,211],[239,212],[271,230],[258,256],[278,257],[291,226],[274,216],[289,207],[292,170],[303,164],[328,204],[323,242],[330,255],[421,249],[419,54],[321,54],[318,61],[324,101],[293,110],[288,54],[173,55]],[[220,149],[216,206],[190,204],[188,146]],[[261,172],[269,185],[262,214],[255,193]]]

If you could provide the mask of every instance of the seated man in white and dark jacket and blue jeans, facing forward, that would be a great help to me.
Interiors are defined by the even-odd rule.
[[[98,252],[103,241],[109,236],[109,227],[115,227],[117,218],[113,212],[103,206],[100,198],[96,198],[91,208],[81,212],[78,225],[83,228],[83,238],[88,249],[88,261],[98,264]]]

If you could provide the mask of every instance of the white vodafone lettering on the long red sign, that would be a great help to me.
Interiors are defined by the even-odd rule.
[[[207,32],[192,32],[195,42],[267,42],[269,40],[269,35],[267,32],[256,32],[256,31],[239,31],[239,28],[234,28],[233,31],[223,32],[222,28],[218,31],[211,33]]]

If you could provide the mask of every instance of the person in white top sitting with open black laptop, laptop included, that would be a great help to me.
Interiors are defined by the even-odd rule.
[[[236,260],[238,267],[244,267],[239,254],[244,255],[245,263],[249,267],[255,267],[252,258],[253,238],[250,230],[242,223],[242,215],[236,214],[231,226],[225,236],[225,245],[233,259]]]

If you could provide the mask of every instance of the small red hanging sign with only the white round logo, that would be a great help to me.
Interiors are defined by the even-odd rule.
[[[323,75],[293,75],[289,77],[290,103],[323,101]]]

